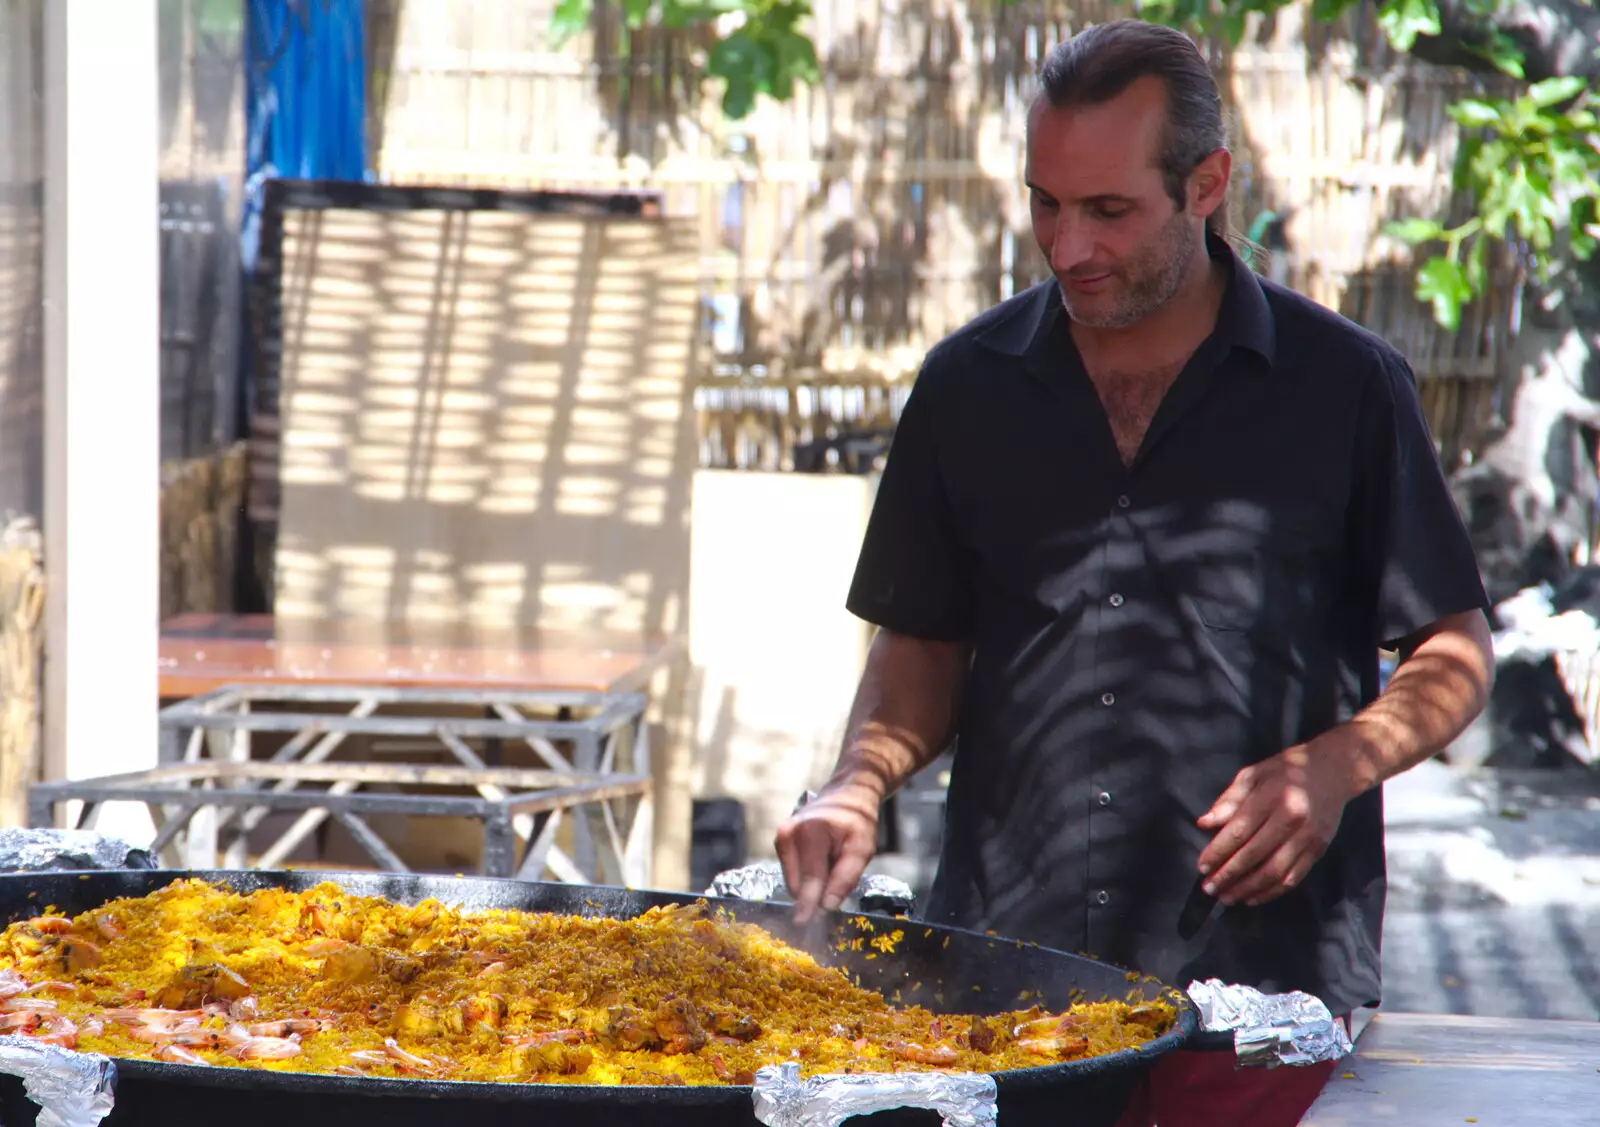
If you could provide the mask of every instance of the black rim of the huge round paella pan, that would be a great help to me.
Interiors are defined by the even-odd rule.
[[[37,880],[40,876],[46,874],[0,874],[0,888],[6,884],[19,882],[32,877]],[[331,882],[355,892],[362,885],[366,887],[365,892],[355,892],[355,895],[374,895],[371,885],[382,882],[386,879],[419,879],[424,882],[437,882],[443,885],[454,885],[466,890],[467,887],[483,887],[483,885],[502,885],[502,887],[544,887],[562,890],[563,895],[573,895],[584,890],[592,890],[605,895],[622,895],[637,896],[640,903],[650,898],[659,903],[672,901],[688,901],[706,900],[714,904],[728,906],[738,909],[741,906],[763,906],[771,908],[773,904],[763,904],[762,901],[749,901],[738,898],[718,898],[707,896],[691,892],[664,892],[664,890],[643,890],[643,888],[624,888],[616,885],[568,885],[554,882],[538,882],[538,880],[515,880],[507,877],[450,877],[440,874],[389,874],[389,872],[357,872],[357,871],[334,871],[334,869],[99,869],[93,872],[51,872],[48,876],[75,876],[78,879],[85,877],[133,877],[144,885],[146,892],[138,895],[147,895],[158,888],[163,888],[178,880],[206,880],[211,884],[248,884],[256,887],[293,887],[302,882],[322,884]],[[128,895],[128,893],[118,893]],[[382,895],[382,893],[376,893]],[[442,903],[450,903],[448,887],[440,890],[432,890],[427,893]],[[110,896],[117,898],[117,896]],[[469,906],[470,908],[470,906]],[[530,911],[530,909],[522,909]],[[539,909],[531,909],[539,911]],[[875,924],[888,925],[904,925],[906,919],[893,916],[878,916],[872,912],[830,912],[837,919],[854,919],[866,917]],[[998,946],[1000,943],[1006,946],[1018,945],[1016,940],[1008,940],[1005,936],[987,935],[982,932],[973,932],[960,927],[934,925],[917,920],[925,927],[931,927],[941,935],[960,935],[973,943],[989,943],[990,946]],[[1075,959],[1082,962],[1091,962],[1102,969],[1112,969],[1122,973],[1120,967],[1106,964],[1101,961],[1088,959],[1086,956],[1074,956],[1066,951],[1058,951],[1054,948],[1043,948],[1032,943],[1021,943],[1019,946],[1042,951],[1045,954],[1061,956],[1066,959]],[[1154,983],[1150,983],[1154,985]],[[1014,1068],[1003,1069],[997,1073],[989,1073],[994,1077],[998,1092],[1005,1093],[1022,1092],[1035,1087],[1056,1085],[1067,1077],[1083,1077],[1093,1076],[1096,1073],[1120,1071],[1125,1066],[1136,1066],[1142,1060],[1154,1060],[1173,1049],[1181,1047],[1187,1039],[1190,1039],[1198,1026],[1198,1018],[1194,1004],[1189,997],[1171,986],[1163,985],[1162,993],[1168,1001],[1178,1007],[1176,1025],[1163,1033],[1160,1037],[1147,1042],[1139,1049],[1123,1049],[1115,1053],[1106,1053],[1101,1057],[1090,1057],[1075,1061],[1062,1061],[1058,1065],[1037,1065],[1030,1068]],[[526,1081],[507,1081],[507,1082],[490,1082],[490,1081],[435,1081],[435,1079],[406,1079],[406,1077],[382,1077],[382,1076],[334,1076],[328,1073],[296,1073],[296,1071],[278,1071],[278,1069],[245,1069],[245,1068],[229,1068],[216,1065],[181,1065],[168,1061],[142,1060],[134,1057],[114,1057],[118,1076],[128,1076],[130,1079],[149,1079],[160,1081],[166,1084],[194,1084],[202,1087],[229,1087],[235,1085],[240,1079],[240,1073],[250,1074],[251,1087],[266,1092],[296,1092],[304,1095],[326,1093],[326,1095],[366,1095],[374,1098],[382,1097],[410,1097],[410,1098],[437,1098],[437,1100],[486,1100],[486,1101],[502,1101],[512,1103],[518,1100],[538,1100],[538,1098],[560,1098],[570,1103],[606,1103],[614,1105],[618,1095],[626,1092],[650,1103],[670,1103],[682,1108],[694,1106],[717,1106],[730,1101],[749,1103],[752,1098],[750,1085],[736,1084],[674,1084],[674,1085],[651,1085],[651,1084],[539,1084]]]

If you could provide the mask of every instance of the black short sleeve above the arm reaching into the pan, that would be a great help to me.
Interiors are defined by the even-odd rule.
[[[925,370],[894,427],[845,605],[898,634],[965,642],[973,626],[973,572],[950,519],[936,397]]]

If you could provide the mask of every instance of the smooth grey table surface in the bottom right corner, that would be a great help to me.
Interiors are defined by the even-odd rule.
[[[1600,1023],[1379,1013],[1301,1127],[1600,1124]]]

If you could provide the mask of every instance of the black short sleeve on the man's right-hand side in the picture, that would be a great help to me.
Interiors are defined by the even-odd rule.
[[[1379,355],[1362,407],[1352,498],[1362,572],[1376,597],[1378,645],[1488,607],[1477,555],[1434,450],[1410,365]]]

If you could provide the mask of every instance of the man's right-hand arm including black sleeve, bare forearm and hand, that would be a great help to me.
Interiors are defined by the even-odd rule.
[[[1357,437],[1350,562],[1374,648],[1400,650],[1354,719],[1243,768],[1200,816],[1200,855],[1224,904],[1262,904],[1306,879],[1350,799],[1443,751],[1483,709],[1494,669],[1488,599],[1429,434],[1416,379],[1374,357]]]

